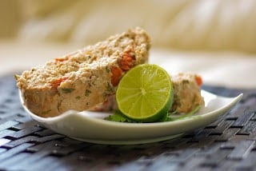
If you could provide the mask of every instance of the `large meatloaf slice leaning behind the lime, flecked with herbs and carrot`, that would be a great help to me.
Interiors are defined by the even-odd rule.
[[[24,105],[41,117],[90,109],[115,93],[122,75],[146,63],[150,38],[135,28],[15,75]]]

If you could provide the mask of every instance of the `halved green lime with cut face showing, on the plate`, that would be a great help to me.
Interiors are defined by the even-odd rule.
[[[166,115],[173,102],[170,76],[160,66],[142,64],[129,70],[118,84],[118,109],[134,121],[153,122]]]

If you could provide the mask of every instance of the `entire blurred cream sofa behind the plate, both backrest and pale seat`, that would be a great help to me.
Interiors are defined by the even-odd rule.
[[[141,26],[150,62],[207,84],[256,88],[254,0],[0,0],[1,74]]]

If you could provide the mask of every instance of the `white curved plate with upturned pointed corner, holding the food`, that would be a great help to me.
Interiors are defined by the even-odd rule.
[[[209,125],[234,107],[242,99],[242,93],[238,97],[220,97],[202,90],[202,97],[205,106],[194,116],[157,123],[106,121],[103,118],[110,113],[71,110],[58,117],[44,118],[31,113],[25,105],[23,107],[34,120],[57,133],[91,143],[127,145],[164,141]]]

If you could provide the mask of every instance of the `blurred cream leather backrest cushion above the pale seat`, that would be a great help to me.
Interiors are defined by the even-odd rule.
[[[256,52],[254,0],[22,0],[22,40],[98,42],[142,26],[153,46]]]

